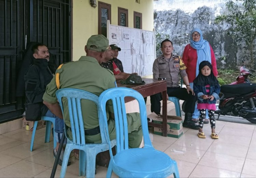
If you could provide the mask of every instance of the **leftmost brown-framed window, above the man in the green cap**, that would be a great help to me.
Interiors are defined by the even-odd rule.
[[[111,4],[98,1],[98,34],[102,34],[105,37],[107,36],[107,20],[110,20],[111,23]]]

